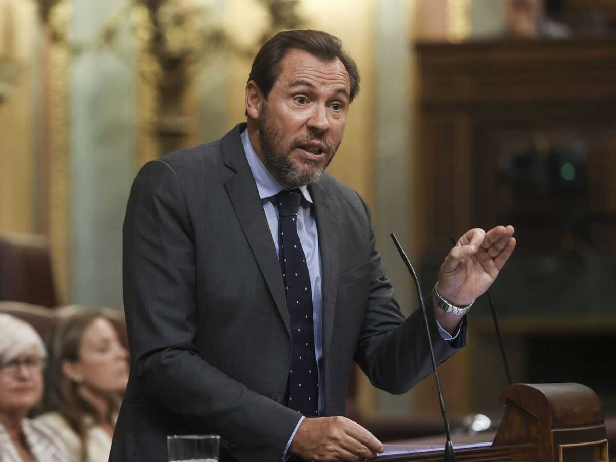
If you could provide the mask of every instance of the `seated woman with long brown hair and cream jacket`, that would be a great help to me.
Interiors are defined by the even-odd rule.
[[[49,344],[44,414],[67,462],[107,462],[128,382],[128,352],[102,312],[82,309],[60,322]]]

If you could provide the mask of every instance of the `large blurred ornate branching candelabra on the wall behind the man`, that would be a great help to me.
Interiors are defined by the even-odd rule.
[[[243,45],[225,30],[213,8],[200,1],[126,1],[87,39],[71,34],[72,11],[66,0],[36,0],[39,17],[52,43],[64,46],[69,56],[108,49],[137,71],[137,166],[164,153],[185,147],[190,119],[184,101],[193,77],[221,52],[253,56],[275,32],[304,23],[299,0],[259,0],[269,26],[256,43]],[[131,19],[136,43],[136,65],[118,46],[126,18]]]

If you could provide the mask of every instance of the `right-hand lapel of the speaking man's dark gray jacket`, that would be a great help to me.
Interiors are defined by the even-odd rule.
[[[323,359],[330,351],[331,333],[334,325],[336,295],[338,294],[339,229],[336,206],[321,182],[309,186],[317,221],[318,246],[321,252],[323,281]]]

